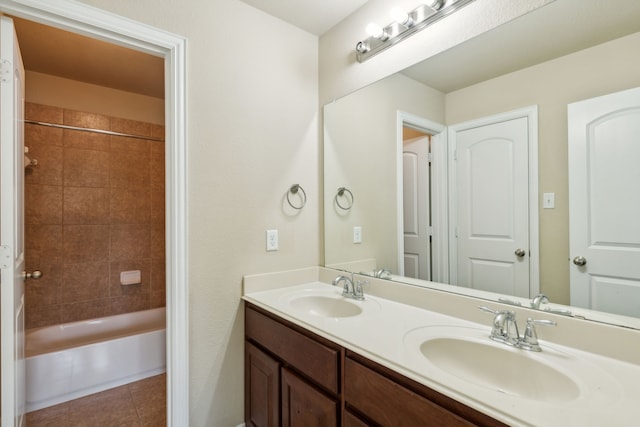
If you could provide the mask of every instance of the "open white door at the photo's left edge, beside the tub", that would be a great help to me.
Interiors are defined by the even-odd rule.
[[[24,69],[13,21],[0,17],[0,309],[2,426],[21,426],[24,377]]]

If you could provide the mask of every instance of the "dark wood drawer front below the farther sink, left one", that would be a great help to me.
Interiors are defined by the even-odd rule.
[[[245,309],[245,332],[248,339],[269,349],[327,391],[339,393],[337,346],[328,347],[250,306]]]

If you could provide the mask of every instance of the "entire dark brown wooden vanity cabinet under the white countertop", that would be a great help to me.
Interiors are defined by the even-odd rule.
[[[249,303],[245,338],[247,426],[506,426]]]

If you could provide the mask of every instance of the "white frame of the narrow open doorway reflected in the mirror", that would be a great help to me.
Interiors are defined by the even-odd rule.
[[[410,126],[431,135],[432,174],[431,174],[431,214],[433,226],[432,277],[434,282],[448,283],[449,280],[449,220],[447,188],[447,127],[414,114],[398,110],[396,113],[396,220],[398,272],[404,276],[404,220],[402,211],[403,172],[402,172],[402,127]]]

